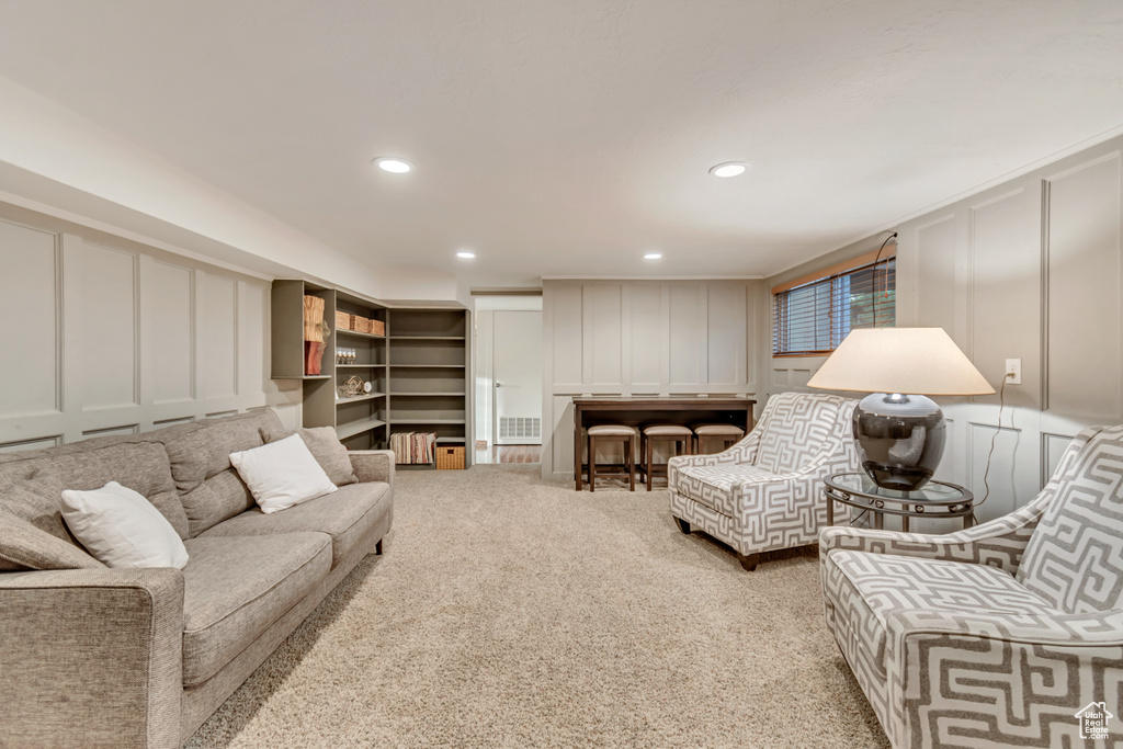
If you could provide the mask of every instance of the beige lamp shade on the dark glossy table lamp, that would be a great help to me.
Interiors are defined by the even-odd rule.
[[[807,385],[916,395],[994,392],[943,328],[851,330]]]

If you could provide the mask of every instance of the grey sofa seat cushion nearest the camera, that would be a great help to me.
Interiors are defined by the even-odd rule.
[[[323,533],[194,538],[183,568],[183,686],[202,684],[331,569]]]

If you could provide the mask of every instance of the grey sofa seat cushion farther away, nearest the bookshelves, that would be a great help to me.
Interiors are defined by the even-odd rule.
[[[360,482],[340,486],[337,492],[272,514],[265,514],[258,508],[247,510],[220,522],[200,538],[320,531],[331,537],[334,569],[364,539],[369,542],[368,531],[384,521],[393,512],[393,506],[390,484]],[[371,550],[374,550],[373,547]]]

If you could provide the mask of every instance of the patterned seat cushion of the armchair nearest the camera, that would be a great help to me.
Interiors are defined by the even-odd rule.
[[[888,616],[901,611],[947,614],[1061,614],[1013,575],[986,565],[831,550],[823,594],[841,624],[886,676]],[[834,574],[836,572],[841,574]]]

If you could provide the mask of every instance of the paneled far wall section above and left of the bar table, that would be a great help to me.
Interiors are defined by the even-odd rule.
[[[761,281],[545,281],[542,476],[573,477],[576,395],[757,398],[766,304]]]

